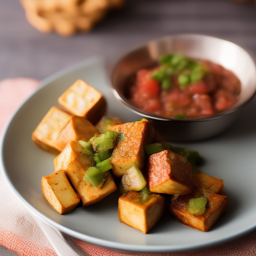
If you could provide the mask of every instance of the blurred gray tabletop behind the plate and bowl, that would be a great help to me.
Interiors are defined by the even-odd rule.
[[[93,55],[111,56],[157,36],[187,32],[221,37],[256,55],[254,1],[127,0],[91,32],[62,37],[28,24],[18,0],[0,0],[0,80],[43,79]],[[7,253],[2,246],[1,253]]]

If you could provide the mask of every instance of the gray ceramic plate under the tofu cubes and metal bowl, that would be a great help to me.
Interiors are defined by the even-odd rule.
[[[42,82],[16,111],[1,140],[3,172],[20,200],[50,225],[81,240],[119,250],[165,252],[201,248],[235,238],[256,226],[256,102],[253,99],[239,118],[224,133],[196,143],[180,144],[196,149],[205,159],[201,170],[222,178],[230,204],[227,212],[208,232],[183,226],[166,212],[161,220],[143,234],[117,216],[118,192],[86,207],[77,207],[66,215],[55,212],[44,200],[41,176],[54,171],[51,155],[32,142],[31,133],[58,96],[77,78],[100,90],[108,102],[108,113],[124,121],[139,116],[118,102],[106,86],[102,59],[93,58],[66,68]]]

